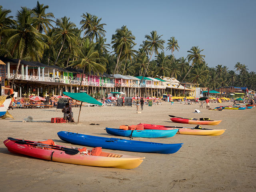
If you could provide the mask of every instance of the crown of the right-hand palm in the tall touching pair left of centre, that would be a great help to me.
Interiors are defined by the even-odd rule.
[[[105,23],[100,24],[102,18],[98,19],[97,16],[94,16],[92,18],[92,26],[90,30],[88,30],[88,36],[91,38],[91,40],[94,40],[94,37],[96,40],[98,40],[98,37],[104,37],[106,31],[104,30]]]

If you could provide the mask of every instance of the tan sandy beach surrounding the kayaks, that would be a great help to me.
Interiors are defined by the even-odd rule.
[[[226,104],[228,103],[211,103],[210,107]],[[193,113],[195,109],[201,110],[201,113]],[[79,108],[72,110],[77,122]],[[61,110],[56,111],[56,108],[14,109],[9,112],[14,120],[0,120],[0,191],[3,192],[256,191],[256,108],[211,111],[200,109],[199,104],[185,105],[175,102],[171,105],[163,102],[162,105],[144,106],[142,113],[137,114],[136,106],[84,106],[79,124],[50,123],[52,117],[63,116]],[[34,141],[52,139],[63,146],[78,146],[60,140],[57,132],[115,137],[106,134],[104,128],[119,128],[121,124],[138,123],[195,126],[171,122],[169,114],[184,118],[222,119],[219,125],[202,127],[227,130],[220,136],[176,134],[172,138],[134,138],[141,141],[184,144],[174,154],[114,151],[146,157],[140,166],[132,170],[40,160],[10,153],[3,144],[7,137],[13,137]],[[22,122],[28,116],[32,116],[35,122]],[[91,123],[100,125],[89,125]]]

